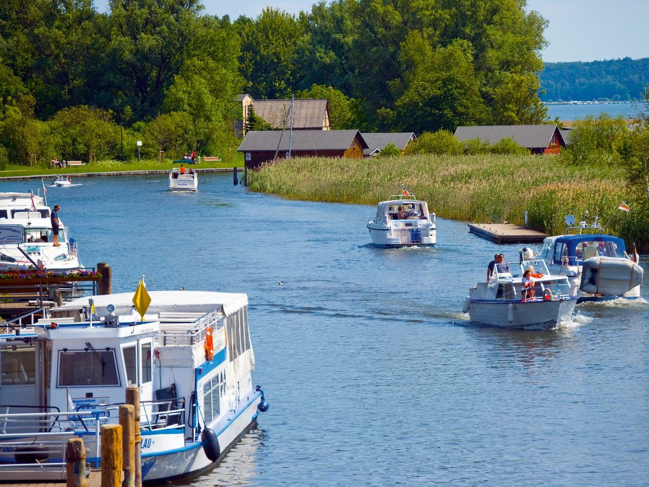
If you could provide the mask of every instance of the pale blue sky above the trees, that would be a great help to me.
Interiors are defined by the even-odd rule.
[[[314,0],[202,0],[204,12],[234,20],[241,15],[256,18],[271,5],[291,14],[309,11]],[[327,2],[328,3],[328,2]],[[545,31],[548,46],[541,52],[545,62],[594,61],[649,57],[648,0],[528,0],[550,25]],[[108,0],[95,0],[100,12]]]

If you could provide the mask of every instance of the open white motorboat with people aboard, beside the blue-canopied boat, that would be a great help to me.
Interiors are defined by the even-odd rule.
[[[522,284],[522,274],[530,266],[538,276],[533,278],[533,297]],[[569,321],[576,304],[567,277],[550,274],[545,261],[537,259],[496,264],[489,282],[469,290],[463,312],[471,321],[496,327],[550,329]]]

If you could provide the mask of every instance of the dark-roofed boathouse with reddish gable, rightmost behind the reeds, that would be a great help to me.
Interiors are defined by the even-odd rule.
[[[556,125],[476,125],[458,127],[455,136],[460,142],[480,139],[494,145],[504,138],[515,140],[532,154],[558,154],[565,147],[561,131]]]

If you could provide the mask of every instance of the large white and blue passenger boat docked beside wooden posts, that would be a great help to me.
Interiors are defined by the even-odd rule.
[[[60,479],[75,437],[99,466],[100,426],[117,423],[127,386],[140,388],[145,482],[211,468],[267,410],[252,383],[247,295],[149,295],[143,321],[121,293],[94,296],[95,316],[86,297],[0,335],[0,479]]]

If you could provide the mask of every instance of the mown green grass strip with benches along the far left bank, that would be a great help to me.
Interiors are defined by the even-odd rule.
[[[86,164],[85,166],[69,166],[65,169],[50,169],[49,164],[38,164],[34,168],[25,168],[25,166],[11,166],[8,165],[0,171],[0,177],[12,176],[33,176],[33,175],[51,175],[58,174],[73,174],[73,173],[101,173],[110,171],[159,171],[161,169],[170,169],[172,167],[171,160],[165,160],[162,163],[155,160],[140,160],[122,162],[120,160],[100,160]],[[178,164],[176,164],[178,166]],[[201,162],[192,166],[196,169],[212,169],[212,168],[243,168],[243,157],[235,158],[234,161],[227,162],[225,160],[214,162]]]

